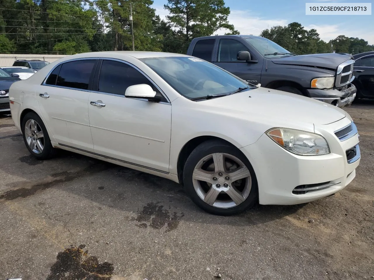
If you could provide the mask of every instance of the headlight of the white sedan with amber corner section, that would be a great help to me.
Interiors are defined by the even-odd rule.
[[[302,130],[272,128],[266,132],[275,143],[295,155],[318,156],[330,153],[324,137]]]

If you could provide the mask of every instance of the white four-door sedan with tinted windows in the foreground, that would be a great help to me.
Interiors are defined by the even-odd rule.
[[[332,195],[360,161],[342,109],[187,55],[68,56],[12,84],[9,96],[36,158],[64,149],[169,178],[213,214]]]

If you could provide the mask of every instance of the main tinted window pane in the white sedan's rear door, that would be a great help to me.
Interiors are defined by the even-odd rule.
[[[87,90],[95,59],[76,60],[62,64],[56,85]]]

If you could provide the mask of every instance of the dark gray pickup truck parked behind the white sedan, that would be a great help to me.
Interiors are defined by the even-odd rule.
[[[187,55],[199,57],[251,84],[288,91],[343,107],[356,96],[349,54],[297,55],[263,37],[194,38]]]

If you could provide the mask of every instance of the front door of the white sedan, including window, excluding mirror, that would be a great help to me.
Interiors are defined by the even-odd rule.
[[[135,84],[149,84],[161,94],[133,66],[102,60],[88,102],[95,153],[168,172],[171,104],[164,96],[159,103],[125,97],[126,88]]]

